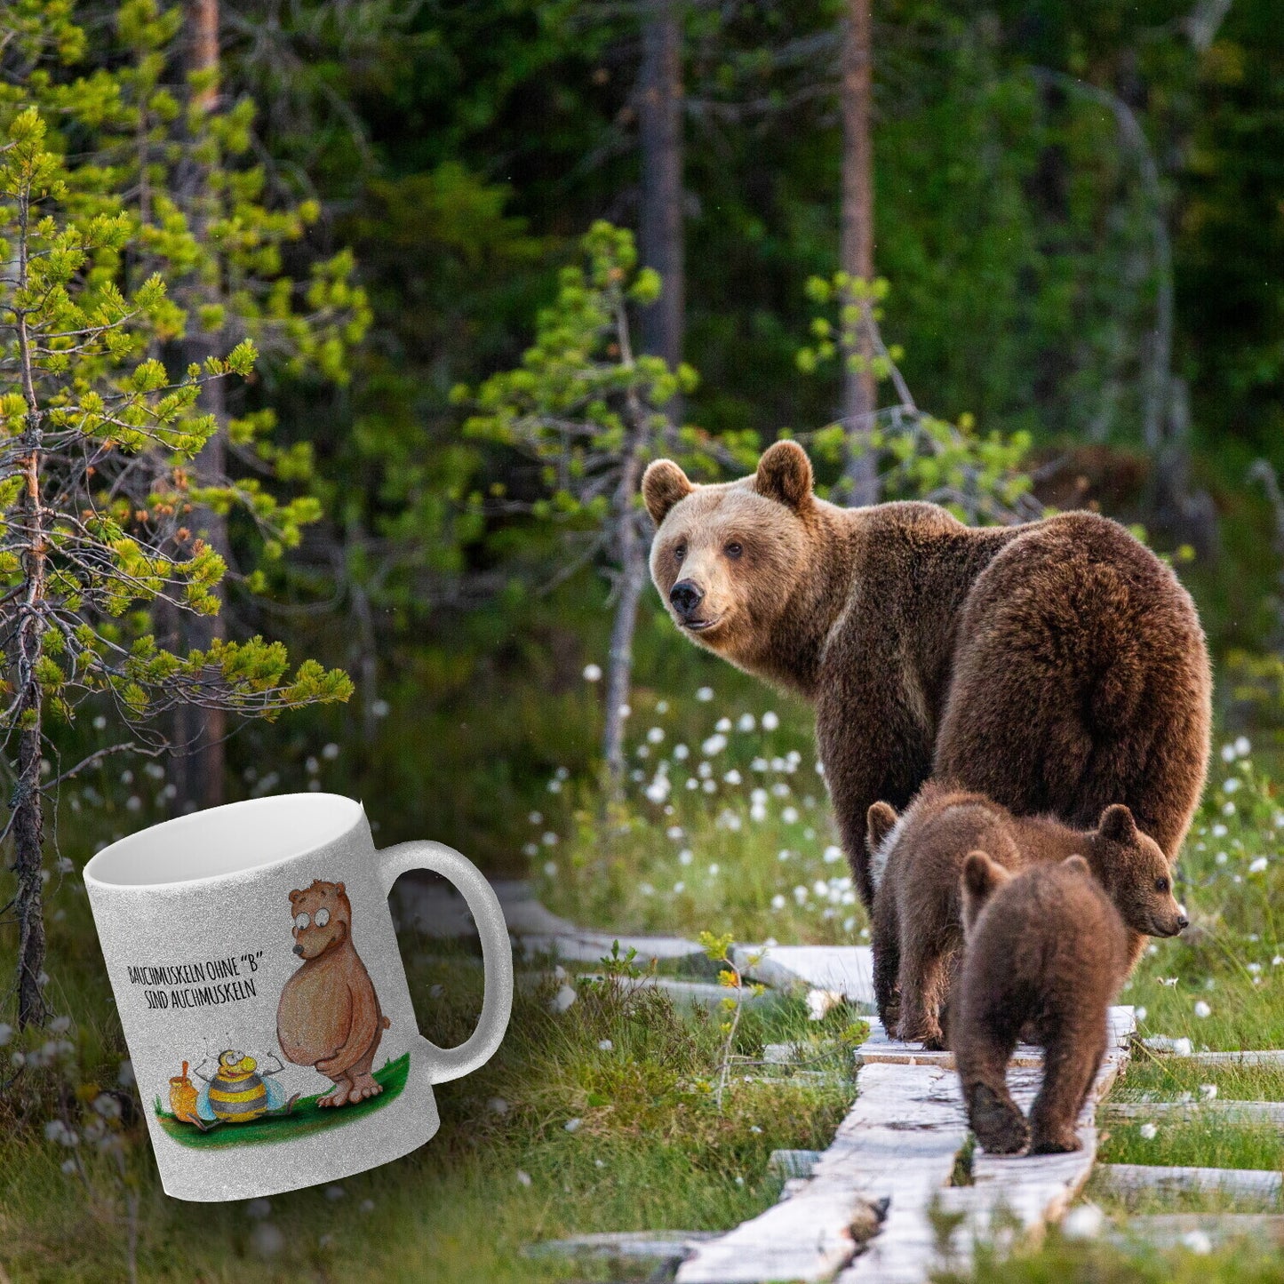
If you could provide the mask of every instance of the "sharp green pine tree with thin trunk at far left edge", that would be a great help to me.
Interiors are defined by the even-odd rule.
[[[77,190],[80,189],[80,190]],[[13,116],[0,149],[0,736],[15,777],[9,831],[19,922],[18,1014],[45,1014],[41,922],[42,777],[49,723],[107,697],[126,724],[181,704],[273,718],[347,700],[352,684],[306,661],[293,673],[280,643],[216,639],[185,655],[159,647],[164,605],[216,614],[222,556],[187,525],[196,505],[244,503],[268,541],[290,544],[307,512],[266,492],[193,485],[193,461],[218,425],[202,388],[248,377],[241,339],[173,376],[153,356],[186,317],[162,272],[131,280],[140,247],[166,262],[187,244],[148,243],[118,199],[82,199],[83,175],[48,144],[33,107]],[[153,738],[153,747],[163,740]]]

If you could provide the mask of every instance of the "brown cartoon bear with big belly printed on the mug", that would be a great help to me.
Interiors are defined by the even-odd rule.
[[[344,1106],[383,1091],[370,1073],[392,1023],[352,944],[352,904],[342,882],[313,880],[290,892],[294,953],[303,967],[285,982],[276,1007],[276,1037],[297,1066],[334,1080],[317,1106]]]

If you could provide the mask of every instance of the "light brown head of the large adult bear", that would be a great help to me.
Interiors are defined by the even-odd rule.
[[[656,460],[642,497],[657,526],[651,578],[674,623],[727,657],[761,643],[810,565],[811,461],[777,442],[752,476],[696,485]]]

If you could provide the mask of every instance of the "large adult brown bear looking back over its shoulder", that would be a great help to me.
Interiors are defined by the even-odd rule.
[[[868,808],[905,806],[928,776],[1082,827],[1122,802],[1176,859],[1208,759],[1208,654],[1185,589],[1122,526],[840,508],[811,493],[794,442],[718,485],[660,460],[642,493],[678,627],[815,704],[867,908]]]

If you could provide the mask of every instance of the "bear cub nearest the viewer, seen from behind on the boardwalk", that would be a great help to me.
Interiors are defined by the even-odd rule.
[[[1129,971],[1124,919],[1079,855],[1013,876],[973,851],[962,885],[967,948],[950,1041],[972,1131],[993,1154],[1027,1141],[1031,1154],[1077,1150],[1075,1124],[1106,1053],[1107,1009]],[[1044,1049],[1028,1126],[1007,1082],[1023,1028]]]

